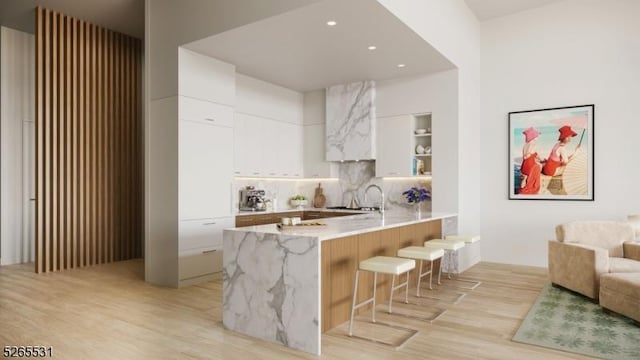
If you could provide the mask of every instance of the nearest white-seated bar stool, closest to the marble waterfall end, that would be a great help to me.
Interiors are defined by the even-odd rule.
[[[378,341],[370,338],[353,335],[353,317],[356,309],[362,306],[365,306],[367,304],[372,304],[371,305],[372,306],[371,322],[374,322],[374,323],[376,322],[376,287],[377,287],[377,281],[378,281],[378,273],[392,275],[391,294],[389,296],[389,314],[391,314],[392,313],[391,305],[393,303],[393,292],[395,290],[405,287],[405,302],[407,303],[409,302],[409,271],[415,269],[415,267],[416,267],[415,260],[401,259],[401,258],[390,257],[390,256],[375,256],[375,257],[360,261],[358,270],[356,270],[356,278],[354,280],[354,285],[353,285],[353,299],[351,302],[351,318],[349,320],[349,336],[375,342],[375,343],[391,345],[398,348],[404,345],[409,339],[411,339],[414,335],[418,333],[418,331],[415,329],[378,322],[377,324],[380,324],[380,325],[385,325],[385,326],[396,328],[396,329],[407,330],[410,332],[410,334],[408,337],[402,340],[400,344],[391,344],[383,341]],[[373,273],[373,297],[356,304],[356,300],[358,297],[358,279],[360,277],[360,271],[370,271]],[[406,281],[401,284],[395,285],[396,276],[399,276],[403,273],[407,274]]]

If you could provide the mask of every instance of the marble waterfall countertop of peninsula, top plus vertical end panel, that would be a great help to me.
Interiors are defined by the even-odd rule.
[[[437,221],[447,213],[364,213],[306,222],[225,229],[222,321],[225,328],[312,354],[321,348],[321,246],[325,240]]]

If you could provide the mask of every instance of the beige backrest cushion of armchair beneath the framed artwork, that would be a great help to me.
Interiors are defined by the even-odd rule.
[[[623,257],[623,243],[634,240],[634,230],[626,222],[573,221],[556,227],[558,241],[578,243],[608,250],[609,256]]]

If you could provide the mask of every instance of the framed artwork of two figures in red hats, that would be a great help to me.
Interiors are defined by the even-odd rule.
[[[594,105],[509,113],[509,199],[593,201]]]

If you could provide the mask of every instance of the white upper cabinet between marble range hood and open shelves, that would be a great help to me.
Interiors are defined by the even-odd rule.
[[[376,176],[412,176],[411,115],[378,118]]]

